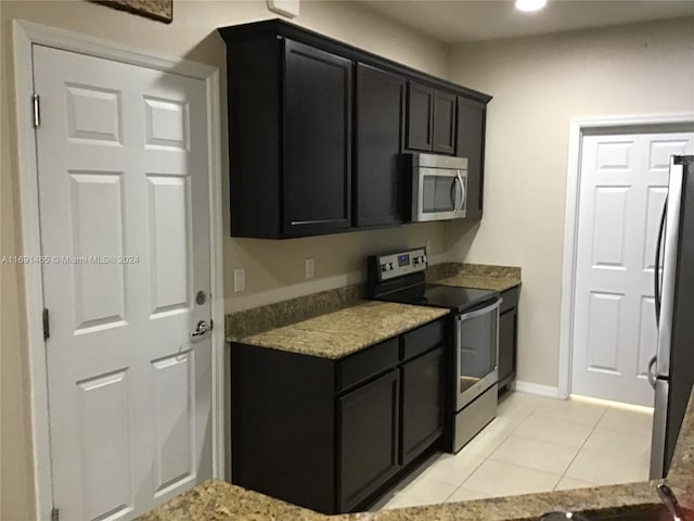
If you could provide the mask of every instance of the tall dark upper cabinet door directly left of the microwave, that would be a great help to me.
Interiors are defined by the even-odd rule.
[[[404,220],[404,86],[401,77],[357,65],[357,226]]]

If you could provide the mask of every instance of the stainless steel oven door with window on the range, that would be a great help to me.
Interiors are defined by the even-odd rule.
[[[455,317],[455,410],[499,380],[499,307],[493,304]]]

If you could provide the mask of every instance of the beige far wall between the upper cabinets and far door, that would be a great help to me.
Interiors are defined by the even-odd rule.
[[[460,241],[470,262],[523,267],[519,380],[557,385],[569,120],[694,113],[693,64],[692,18],[454,46],[452,80],[494,97],[485,217]]]

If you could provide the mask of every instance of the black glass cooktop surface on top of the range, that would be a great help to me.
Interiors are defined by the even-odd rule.
[[[447,307],[454,313],[463,313],[484,307],[498,298],[498,291],[441,284],[417,284],[383,295],[380,300],[417,306]]]

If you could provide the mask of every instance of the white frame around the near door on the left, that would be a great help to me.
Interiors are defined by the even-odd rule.
[[[17,115],[17,164],[22,202],[23,254],[41,255],[39,227],[36,134],[31,120],[34,92],[31,46],[42,45],[90,56],[139,65],[166,73],[202,79],[207,89],[207,134],[209,164],[209,224],[213,348],[213,475],[224,478],[224,298],[222,263],[221,139],[219,69],[179,58],[141,51],[120,43],[92,38],[26,21],[13,21],[15,110]],[[48,377],[43,340],[43,278],[38,263],[24,265],[24,289],[29,343],[31,445],[37,518],[50,517],[53,507],[48,410]]]

